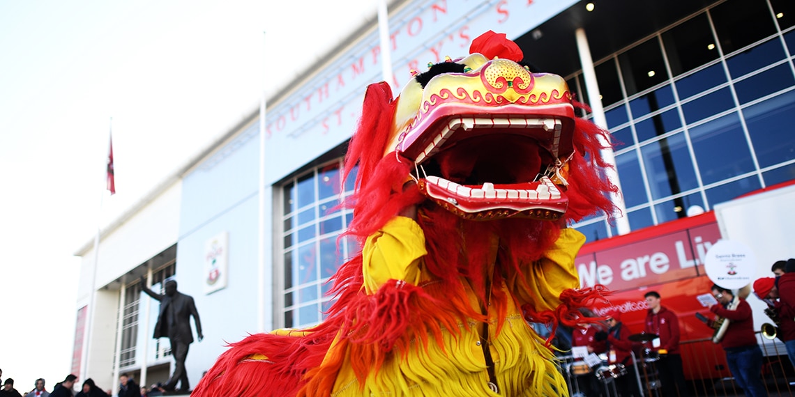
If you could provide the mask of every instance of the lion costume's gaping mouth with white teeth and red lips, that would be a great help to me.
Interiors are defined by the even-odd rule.
[[[406,146],[429,198],[462,218],[557,219],[568,199],[549,179],[561,118],[452,116]],[[570,134],[568,135],[570,137]]]

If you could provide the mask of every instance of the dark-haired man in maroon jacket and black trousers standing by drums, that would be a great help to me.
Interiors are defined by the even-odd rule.
[[[643,332],[660,337],[659,345],[653,345],[652,350],[660,357],[657,360],[657,372],[660,374],[662,395],[688,397],[690,392],[684,381],[679,350],[679,318],[672,310],[662,306],[662,299],[657,291],[646,292],[643,297],[649,306]]]

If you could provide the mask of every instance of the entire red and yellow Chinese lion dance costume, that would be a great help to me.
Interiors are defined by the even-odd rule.
[[[568,394],[529,322],[576,326],[602,294],[577,289],[585,238],[566,225],[614,210],[605,132],[504,34],[470,52],[397,98],[367,88],[345,161],[363,249],[333,277],[335,304],[311,329],[231,344],[195,395]]]

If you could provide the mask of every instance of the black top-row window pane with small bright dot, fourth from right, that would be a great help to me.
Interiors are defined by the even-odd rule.
[[[657,37],[619,55],[619,64],[627,95],[637,94],[668,79]]]

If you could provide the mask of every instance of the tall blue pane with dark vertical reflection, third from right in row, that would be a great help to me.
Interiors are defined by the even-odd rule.
[[[641,152],[653,199],[698,187],[684,133],[644,145]]]

